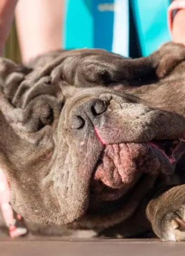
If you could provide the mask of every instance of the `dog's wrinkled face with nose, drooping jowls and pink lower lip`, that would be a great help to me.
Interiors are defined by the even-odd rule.
[[[18,90],[6,81],[4,94],[14,107],[4,104],[15,113],[1,110],[1,167],[18,213],[56,225],[87,216],[101,223],[111,215],[113,224],[140,180],[173,173],[181,115],[150,107],[124,84],[69,85],[45,76],[28,86],[30,76]]]

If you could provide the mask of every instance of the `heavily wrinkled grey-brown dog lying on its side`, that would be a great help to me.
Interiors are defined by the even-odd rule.
[[[32,234],[185,241],[185,46],[0,58],[0,168]]]

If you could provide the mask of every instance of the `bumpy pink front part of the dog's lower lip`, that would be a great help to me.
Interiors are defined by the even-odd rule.
[[[137,144],[132,147],[132,143],[107,145],[94,179],[112,188],[131,183],[137,169],[135,160],[141,153],[138,147]]]

